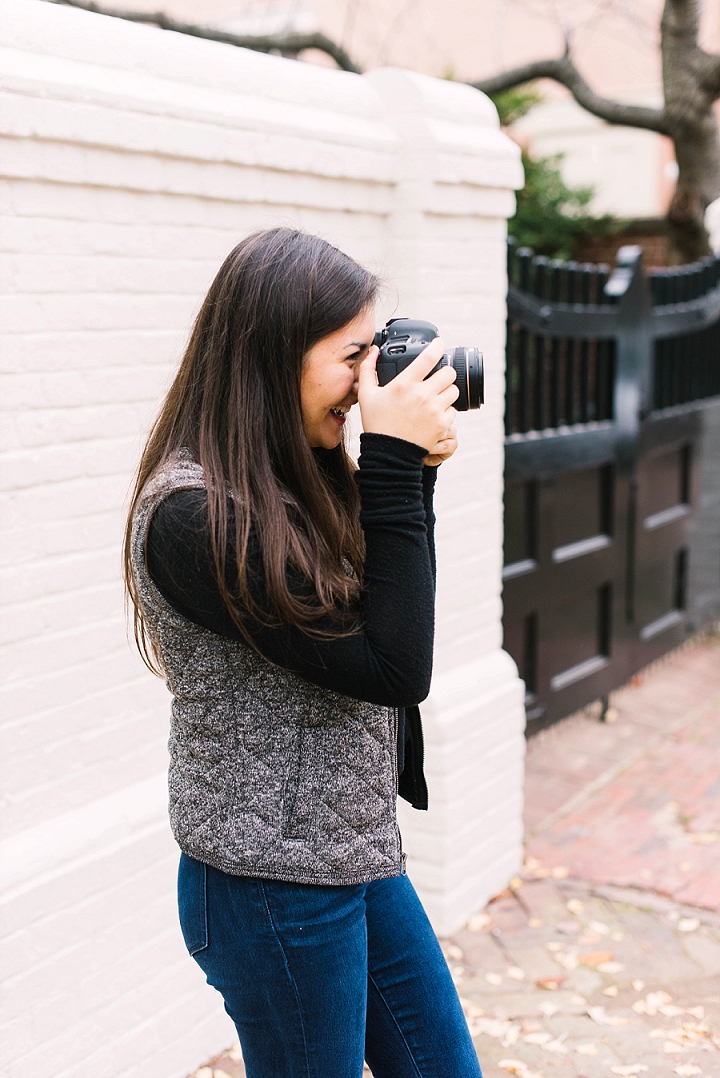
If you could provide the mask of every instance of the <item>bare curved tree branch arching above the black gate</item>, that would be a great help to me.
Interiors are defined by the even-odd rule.
[[[530,82],[532,79],[554,79],[570,91],[578,105],[587,112],[606,120],[609,124],[623,124],[627,127],[645,127],[647,130],[667,135],[668,128],[665,113],[662,109],[646,109],[638,105],[623,105],[607,97],[600,97],[592,89],[577,67],[566,54],[559,59],[536,60],[522,67],[503,71],[490,79],[481,79],[470,85],[482,89],[485,94],[498,94],[511,86]]]

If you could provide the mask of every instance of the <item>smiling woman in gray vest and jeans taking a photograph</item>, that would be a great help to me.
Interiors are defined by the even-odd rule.
[[[315,236],[226,259],[140,465],[136,636],[172,693],[185,943],[249,1078],[477,1078],[404,874],[427,807],[437,466],[456,448],[433,341],[375,376],[376,279]],[[343,428],[358,402],[356,470]]]

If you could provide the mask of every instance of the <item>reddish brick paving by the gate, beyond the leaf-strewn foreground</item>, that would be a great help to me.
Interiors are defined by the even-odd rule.
[[[686,647],[634,682],[613,695],[612,724],[581,714],[530,742],[527,855],[717,910],[720,640]]]

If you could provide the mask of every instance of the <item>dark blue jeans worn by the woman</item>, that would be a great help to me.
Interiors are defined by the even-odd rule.
[[[188,950],[225,1001],[248,1078],[482,1078],[445,958],[407,876],[318,887],[185,854]]]

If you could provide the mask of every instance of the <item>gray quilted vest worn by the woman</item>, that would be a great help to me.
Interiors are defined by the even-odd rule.
[[[153,509],[202,487],[189,455],[146,487],[133,572],[172,694],[169,812],[184,853],[234,875],[311,884],[401,872],[397,715],[311,685],[188,621],[146,563]]]

